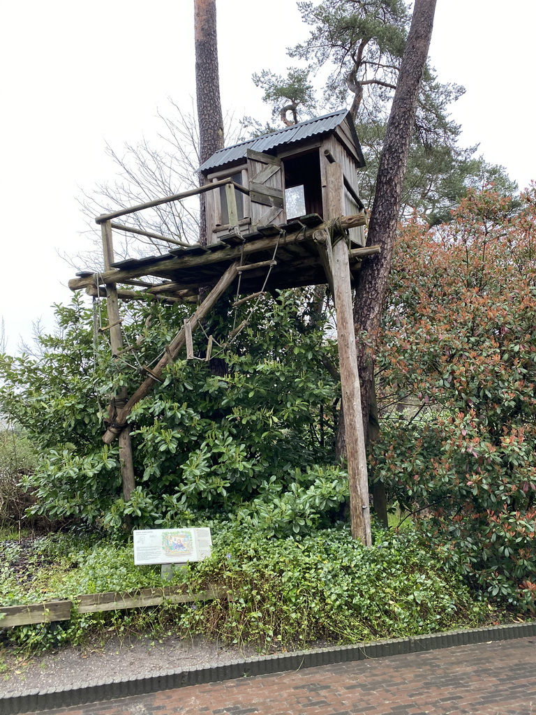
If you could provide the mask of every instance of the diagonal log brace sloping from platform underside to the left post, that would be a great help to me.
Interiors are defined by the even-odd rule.
[[[238,265],[238,262],[234,262],[232,265],[229,266],[229,268],[227,268],[227,270],[224,272],[224,275],[222,275],[222,277],[219,279],[214,288],[212,288],[211,292],[209,292],[209,295],[207,295],[202,304],[199,305],[197,310],[194,312],[194,315],[190,317],[189,324],[192,328],[192,332],[195,330],[197,325],[199,325],[199,321],[202,320],[212,310],[212,307],[214,307],[214,304],[217,302],[219,297],[224,294],[227,288],[237,277]],[[172,363],[172,361],[177,358],[177,355],[179,355],[179,350],[181,350],[181,348],[184,346],[185,340],[186,335],[183,327],[182,330],[180,330],[177,335],[175,335],[172,342],[169,343],[166,352],[164,352],[163,357],[159,360],[157,365],[152,368],[152,375],[156,376],[156,378],[160,378],[164,368],[166,368],[169,363]],[[151,376],[144,380],[142,385],[140,385],[134,395],[131,396],[124,408],[118,410],[114,423],[109,425],[108,429],[102,437],[104,443],[111,444],[116,438],[116,436],[119,435],[122,430],[124,430],[125,420],[131,413],[132,408],[134,408],[134,405],[139,403],[139,400],[142,400],[146,395],[149,395],[153,386],[154,377]]]

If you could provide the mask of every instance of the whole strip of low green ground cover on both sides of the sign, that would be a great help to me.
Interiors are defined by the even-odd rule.
[[[74,613],[71,621],[10,628],[4,638],[26,649],[79,644],[90,634],[204,634],[259,649],[306,646],[319,639],[352,643],[410,636],[485,621],[455,568],[442,563],[415,531],[378,532],[372,548],[347,528],[273,538],[255,526],[213,523],[211,558],[180,569],[172,585],[196,593],[222,586],[229,598],[106,613]],[[69,546],[70,542],[70,546]],[[134,566],[132,547],[61,535],[39,541],[54,564],[31,583],[0,581],[0,602],[31,603],[78,593],[137,591],[162,582],[159,566]],[[16,555],[14,554],[14,558]]]

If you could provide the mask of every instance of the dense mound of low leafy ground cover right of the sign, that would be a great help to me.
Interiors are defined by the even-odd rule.
[[[264,648],[440,631],[486,611],[412,532],[379,532],[366,548],[346,528],[274,539],[230,527],[189,583],[222,583],[232,598],[186,609],[183,628]]]

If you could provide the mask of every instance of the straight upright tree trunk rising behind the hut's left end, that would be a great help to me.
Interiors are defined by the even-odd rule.
[[[224,145],[222,100],[219,97],[216,0],[194,0],[195,87],[199,125],[199,161],[206,162]],[[204,177],[199,174],[199,185]],[[206,246],[207,212],[201,194],[199,243]]]

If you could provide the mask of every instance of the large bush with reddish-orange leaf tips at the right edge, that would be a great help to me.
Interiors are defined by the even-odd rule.
[[[535,608],[536,187],[402,228],[372,477],[488,595]],[[461,556],[460,556],[461,554]]]

